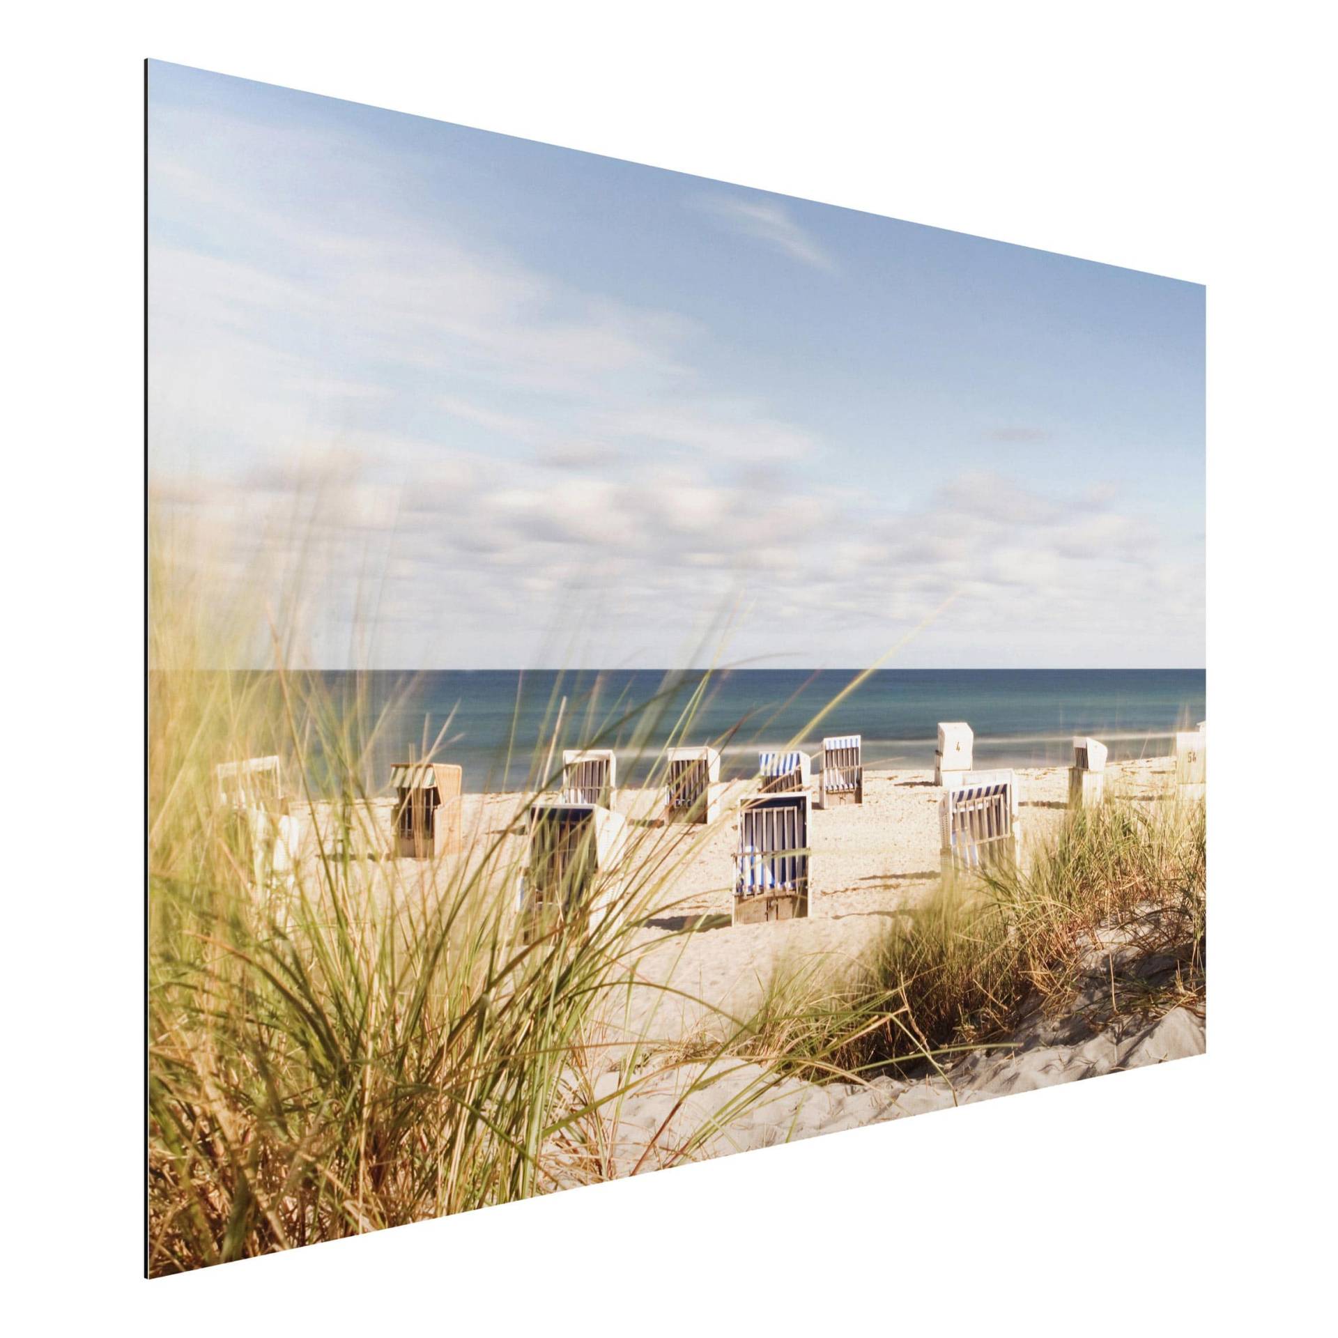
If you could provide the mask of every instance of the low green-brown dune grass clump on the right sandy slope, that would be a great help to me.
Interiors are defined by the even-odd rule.
[[[783,963],[748,1044],[816,1081],[867,1078],[1001,1042],[1036,1009],[1069,1014],[1093,979],[1093,1028],[1202,1010],[1206,882],[1202,800],[1070,812],[1021,866],[945,879],[847,975]]]

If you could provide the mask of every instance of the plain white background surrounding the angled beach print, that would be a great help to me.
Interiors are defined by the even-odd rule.
[[[0,1220],[16,1331],[1302,1323],[1331,1263],[1334,1124],[1334,820],[1303,797],[1334,743],[1323,13],[270,0],[8,16]],[[1210,1054],[142,1282],[145,56],[1206,282]],[[36,760],[90,781],[78,827],[45,846]]]

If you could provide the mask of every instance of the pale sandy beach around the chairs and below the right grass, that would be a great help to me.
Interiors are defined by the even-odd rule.
[[[1173,771],[1171,757],[1115,763],[1108,768],[1108,792],[1156,803],[1175,793]],[[1068,808],[1068,771],[1021,769],[1017,779],[1025,852],[1044,844],[1061,823]],[[660,791],[625,788],[615,793],[614,811],[628,823],[628,876],[634,879],[638,867],[662,866],[668,874],[656,886],[648,903],[653,909],[633,937],[628,989],[618,991],[599,1025],[599,1052],[607,1060],[597,1061],[594,1072],[585,1076],[595,1092],[617,1086],[618,1056],[628,1042],[661,1054],[688,1053],[721,1034],[731,1018],[756,1009],[781,966],[787,973],[812,969],[839,978],[855,966],[890,917],[914,906],[939,883],[941,789],[933,773],[870,771],[862,805],[814,808],[808,918],[732,925],[731,856],[737,836],[731,815],[752,788],[748,783],[728,787],[723,818],[709,830],[664,824]],[[381,800],[379,807],[389,803]],[[443,876],[459,871],[460,858],[476,859],[495,840],[500,840],[500,864],[519,862],[524,838],[507,832],[518,803],[514,793],[464,795],[463,848],[470,854],[400,859],[395,862],[397,876],[409,886],[420,883],[424,891],[432,883],[440,886]],[[309,858],[310,848],[304,854]],[[1093,978],[1076,999],[1073,1017],[1056,1021],[1037,1010],[1001,1046],[970,1053],[915,1081],[771,1080],[761,1104],[740,1120],[727,1120],[692,1155],[716,1156],[809,1137],[1203,1052],[1203,1018],[1183,1008],[1153,1022],[1124,1020],[1098,1029],[1082,1022],[1078,1014],[1105,989],[1107,953],[1097,949]],[[735,1061],[727,1069],[710,1069],[709,1084],[690,1090],[705,1076],[705,1065],[661,1066],[610,1107],[601,1137],[614,1149],[610,1156],[626,1163],[621,1173],[642,1156],[654,1164],[674,1161],[677,1131],[700,1127],[749,1085],[765,1081],[759,1065]]]

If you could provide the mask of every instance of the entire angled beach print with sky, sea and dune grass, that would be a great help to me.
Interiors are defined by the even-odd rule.
[[[1203,286],[146,134],[150,1275],[1204,1052]]]

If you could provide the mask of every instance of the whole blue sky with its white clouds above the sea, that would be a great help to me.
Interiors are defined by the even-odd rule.
[[[157,62],[149,226],[162,512],[314,662],[1203,664],[1199,285]]]

